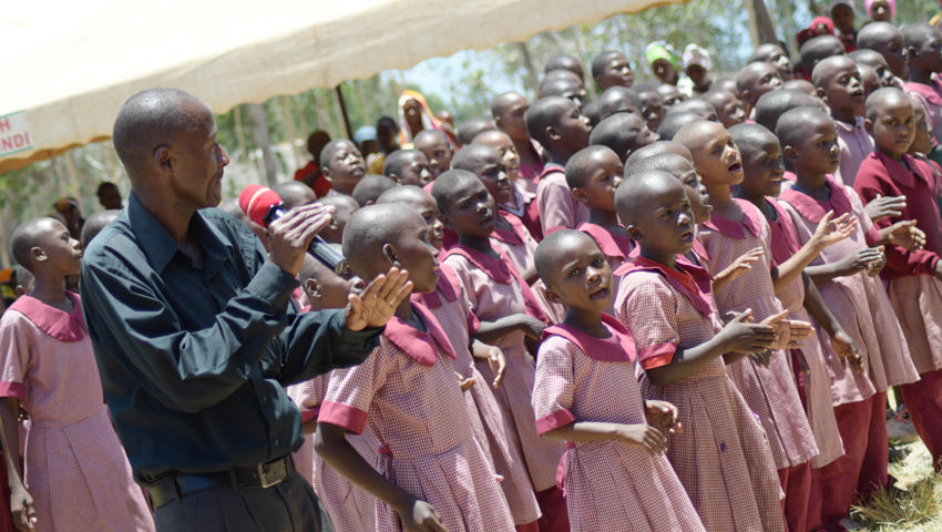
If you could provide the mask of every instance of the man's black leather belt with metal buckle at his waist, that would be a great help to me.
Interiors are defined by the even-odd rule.
[[[269,488],[295,472],[295,462],[287,454],[270,462],[243,466],[215,473],[178,473],[149,488],[154,509],[198,491],[214,488]]]

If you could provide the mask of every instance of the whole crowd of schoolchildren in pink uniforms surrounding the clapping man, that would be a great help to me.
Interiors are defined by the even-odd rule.
[[[406,91],[401,130],[311,135],[275,188],[332,207],[346,268],[307,257],[293,304],[412,283],[364,364],[288,390],[335,529],[843,530],[897,489],[891,388],[942,471],[942,31],[867,10],[858,30],[835,2],[799,69],[766,43],[716,78],[656,42],[659,85],[635,88],[622,52],[591,80],[556,55],[490,119]],[[154,526],[65,289],[109,213],[81,244],[54,218],[13,234],[0,530]]]

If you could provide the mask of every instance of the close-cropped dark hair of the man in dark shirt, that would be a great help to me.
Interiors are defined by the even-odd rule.
[[[112,143],[133,184],[157,147],[173,146],[213,120],[213,113],[192,94],[149,89],[131,96],[117,111]]]

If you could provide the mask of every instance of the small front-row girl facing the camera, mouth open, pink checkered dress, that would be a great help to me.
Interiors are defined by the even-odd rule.
[[[533,410],[542,434],[569,441],[572,530],[703,531],[664,456],[677,408],[642,399],[634,340],[602,314],[614,296],[602,249],[563,229],[543,241],[536,258],[549,294],[569,307],[562,324],[543,331]]]

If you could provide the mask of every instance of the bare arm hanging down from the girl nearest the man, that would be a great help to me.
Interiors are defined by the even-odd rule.
[[[331,423],[318,423],[314,448],[331,468],[399,514],[407,531],[446,532],[436,509],[388,481],[372,469],[344,437],[346,429]]]

